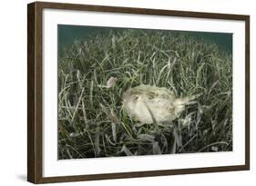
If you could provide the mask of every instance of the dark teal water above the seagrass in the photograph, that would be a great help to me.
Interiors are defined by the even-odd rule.
[[[126,28],[113,28],[113,27],[100,27],[100,26],[85,26],[85,25],[65,25],[58,24],[57,27],[57,42],[58,42],[58,54],[61,56],[63,50],[68,48],[77,39],[86,40],[88,37],[102,34],[106,29],[112,30],[124,30]],[[171,32],[171,31],[170,31]],[[208,33],[208,32],[188,32],[191,36],[197,39],[204,39],[206,41],[217,44],[221,50],[232,54],[232,34],[226,33]]]

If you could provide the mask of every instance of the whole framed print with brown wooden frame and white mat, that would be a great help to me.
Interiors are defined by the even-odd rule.
[[[250,16],[28,5],[28,181],[250,169]]]

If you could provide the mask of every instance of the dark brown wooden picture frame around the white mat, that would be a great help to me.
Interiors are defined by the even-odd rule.
[[[245,22],[245,164],[178,170],[133,171],[78,176],[68,175],[62,177],[43,177],[42,11],[46,8],[139,15],[198,17],[209,19],[240,20]],[[35,2],[27,5],[27,70],[27,181],[33,183],[91,181],[215,171],[242,171],[250,169],[250,15],[226,15],[130,7]]]

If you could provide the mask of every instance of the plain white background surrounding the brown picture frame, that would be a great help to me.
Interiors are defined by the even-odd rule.
[[[200,12],[251,15],[251,171],[218,172],[57,183],[55,185],[252,185],[256,176],[256,11],[253,0],[55,0],[56,2],[118,5]],[[6,0],[0,6],[0,185],[29,185],[26,182],[26,4]],[[250,184],[251,183],[251,184]],[[51,184],[50,184],[51,185]]]

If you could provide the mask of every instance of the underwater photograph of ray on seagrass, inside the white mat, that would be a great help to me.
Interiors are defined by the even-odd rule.
[[[231,152],[232,36],[58,24],[58,160]]]

